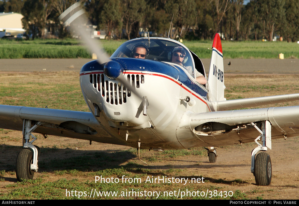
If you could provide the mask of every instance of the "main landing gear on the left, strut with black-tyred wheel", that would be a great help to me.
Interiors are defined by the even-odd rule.
[[[32,143],[36,140],[33,132],[42,122],[36,123],[31,127],[31,120],[24,119],[23,123],[23,149],[19,152],[16,160],[16,177],[18,181],[24,179],[33,179],[34,172],[37,172],[37,159],[39,156],[39,147]],[[29,142],[30,136],[33,140]]]

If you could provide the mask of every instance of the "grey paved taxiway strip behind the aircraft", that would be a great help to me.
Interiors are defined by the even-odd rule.
[[[92,59],[0,59],[1,72],[77,71]],[[202,59],[206,73],[210,59]],[[299,74],[298,59],[224,59],[225,74]],[[228,63],[231,62],[231,65]]]

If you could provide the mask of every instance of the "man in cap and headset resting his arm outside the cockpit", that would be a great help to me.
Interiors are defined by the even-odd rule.
[[[171,62],[179,64],[184,67],[184,64],[187,62],[188,57],[186,57],[185,49],[181,46],[177,46],[173,48],[171,52]],[[191,66],[184,67],[190,75],[193,75],[193,69]],[[202,73],[198,72],[196,69],[194,69],[196,72],[196,81],[199,84],[207,84],[207,79],[202,75]]]

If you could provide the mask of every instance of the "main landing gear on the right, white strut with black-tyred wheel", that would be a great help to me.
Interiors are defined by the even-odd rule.
[[[254,123],[250,123],[261,134],[255,142],[258,146],[251,152],[251,172],[255,177],[257,185],[267,186],[271,183],[272,178],[272,163],[270,155],[264,151],[271,149],[271,124],[268,120],[262,122],[262,130]],[[262,137],[262,144],[257,142]],[[263,152],[260,152],[263,151]]]

